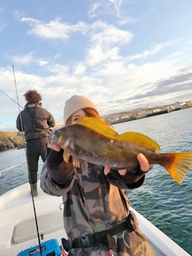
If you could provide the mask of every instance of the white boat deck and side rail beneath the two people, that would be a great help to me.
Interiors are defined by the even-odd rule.
[[[62,210],[59,208],[63,208],[62,198],[51,197],[38,187],[38,197],[34,198],[34,203],[41,242],[55,238],[61,245],[61,238],[66,238]],[[155,256],[190,256],[141,214],[131,210],[137,214],[139,228],[153,246]],[[38,245],[34,207],[28,183],[0,197],[0,220],[0,256],[17,255],[22,250]]]

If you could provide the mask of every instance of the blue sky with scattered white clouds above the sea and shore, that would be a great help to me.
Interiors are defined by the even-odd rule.
[[[101,115],[191,100],[191,10],[190,0],[0,0],[0,130],[16,130],[15,102],[30,89],[57,124],[74,94]]]

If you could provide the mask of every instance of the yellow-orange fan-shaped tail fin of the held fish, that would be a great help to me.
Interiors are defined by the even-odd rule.
[[[192,152],[169,154],[174,158],[174,161],[165,169],[176,182],[181,184],[192,167]]]

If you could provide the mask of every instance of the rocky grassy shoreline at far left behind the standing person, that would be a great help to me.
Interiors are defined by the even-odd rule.
[[[12,150],[14,148],[23,148],[25,139],[23,140],[21,132],[3,132],[0,131],[0,152]]]

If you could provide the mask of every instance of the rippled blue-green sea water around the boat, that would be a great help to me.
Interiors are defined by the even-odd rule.
[[[161,152],[192,151],[192,108],[114,125],[122,134],[136,131],[158,142]],[[1,170],[26,162],[26,152],[0,153]],[[42,161],[39,161],[40,175]],[[0,195],[28,182],[26,163],[2,172]],[[146,174],[143,185],[126,191],[130,205],[192,255],[192,169],[179,185],[161,166]]]

